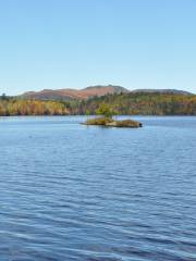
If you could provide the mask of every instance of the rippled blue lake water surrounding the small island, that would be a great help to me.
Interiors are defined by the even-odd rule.
[[[196,260],[196,117],[136,119],[0,119],[0,260]]]

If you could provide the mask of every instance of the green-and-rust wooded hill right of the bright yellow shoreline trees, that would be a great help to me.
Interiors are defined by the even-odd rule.
[[[84,101],[83,105],[77,107],[74,113],[84,114],[84,110],[88,109],[90,114],[97,114],[102,103],[107,104],[108,108],[112,108],[112,111],[115,112],[112,114],[119,115],[196,115],[195,95],[159,92],[131,92],[96,97]]]

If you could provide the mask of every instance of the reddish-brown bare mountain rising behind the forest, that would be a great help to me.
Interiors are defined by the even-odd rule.
[[[21,97],[25,99],[37,99],[37,100],[71,100],[71,99],[88,99],[91,97],[101,97],[109,94],[121,94],[128,92],[127,89],[121,86],[89,86],[84,89],[44,89],[40,91],[28,91],[23,94]]]

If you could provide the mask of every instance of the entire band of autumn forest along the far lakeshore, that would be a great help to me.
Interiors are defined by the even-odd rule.
[[[96,114],[107,104],[119,115],[196,115],[196,95],[160,92],[114,94],[87,100],[26,100],[0,97],[0,115],[84,115]]]

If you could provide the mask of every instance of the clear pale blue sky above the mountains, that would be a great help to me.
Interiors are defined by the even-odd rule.
[[[97,84],[196,92],[196,1],[0,0],[0,94]]]

